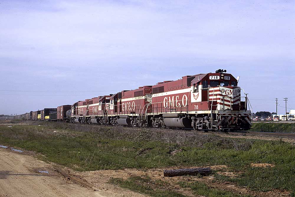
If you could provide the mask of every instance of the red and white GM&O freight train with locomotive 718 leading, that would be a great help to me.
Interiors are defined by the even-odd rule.
[[[226,70],[183,76],[19,115],[19,119],[135,127],[238,131],[251,128],[247,95]]]

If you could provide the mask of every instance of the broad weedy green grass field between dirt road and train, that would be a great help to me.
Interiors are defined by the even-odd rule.
[[[80,171],[227,165],[227,170],[238,176],[229,178],[214,172],[215,181],[230,181],[257,191],[295,191],[295,147],[283,141],[233,139],[206,133],[187,135],[153,128],[30,124],[0,126],[0,144],[41,153],[42,160]],[[172,155],[175,150],[177,153]],[[275,166],[259,168],[251,163]]]

